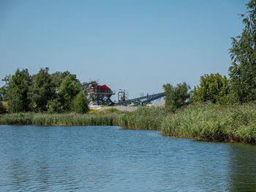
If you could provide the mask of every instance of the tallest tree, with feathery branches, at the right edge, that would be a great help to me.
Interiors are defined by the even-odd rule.
[[[243,18],[241,36],[232,38],[229,74],[231,92],[241,103],[256,100],[256,1],[246,4],[249,9]]]

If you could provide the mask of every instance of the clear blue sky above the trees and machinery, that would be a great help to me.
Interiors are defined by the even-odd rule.
[[[227,75],[246,2],[0,0],[0,78],[47,66],[129,98],[162,92],[167,82],[193,88],[203,74]]]

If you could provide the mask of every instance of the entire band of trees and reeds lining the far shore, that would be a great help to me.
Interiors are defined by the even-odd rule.
[[[165,107],[139,107],[135,112],[110,108],[89,111],[89,87],[76,74],[7,75],[0,88],[0,124],[39,126],[120,126],[160,130],[168,137],[256,144],[256,1],[241,14],[241,36],[232,37],[229,78],[204,74],[193,90],[187,82],[163,85]]]

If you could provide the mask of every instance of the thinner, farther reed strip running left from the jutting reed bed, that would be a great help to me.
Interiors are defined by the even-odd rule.
[[[11,113],[0,115],[0,124],[37,126],[121,126],[122,128],[159,129],[165,110],[141,107],[135,112],[92,110],[89,114]]]

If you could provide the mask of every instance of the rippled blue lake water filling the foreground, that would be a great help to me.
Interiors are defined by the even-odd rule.
[[[0,191],[256,191],[256,146],[110,126],[0,126]]]

